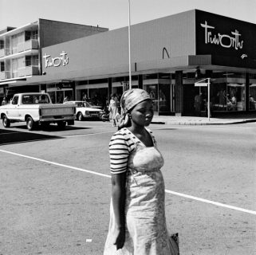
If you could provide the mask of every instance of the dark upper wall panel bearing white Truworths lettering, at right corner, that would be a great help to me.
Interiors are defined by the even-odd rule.
[[[256,59],[256,25],[196,10],[196,54]]]

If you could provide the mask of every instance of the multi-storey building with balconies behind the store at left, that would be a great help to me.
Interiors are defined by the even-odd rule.
[[[41,18],[0,30],[0,99],[8,93],[6,84],[26,86],[28,78],[41,75],[42,48],[104,31],[108,29]]]

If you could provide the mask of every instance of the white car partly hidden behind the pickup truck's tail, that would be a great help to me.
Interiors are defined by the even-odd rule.
[[[102,110],[98,108],[91,108],[90,104],[85,101],[67,101],[63,104],[75,104],[77,120],[84,120],[86,118],[96,118],[100,120]]]

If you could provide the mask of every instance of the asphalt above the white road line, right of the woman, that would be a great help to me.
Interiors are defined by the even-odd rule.
[[[219,128],[154,133],[165,159],[167,189],[255,210],[253,133]]]

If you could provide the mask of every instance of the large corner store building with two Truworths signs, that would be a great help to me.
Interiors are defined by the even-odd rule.
[[[255,24],[201,10],[136,24],[132,88],[149,92],[156,114],[204,116],[210,78],[213,115],[254,112],[255,35]],[[87,97],[104,106],[128,88],[128,27],[43,47],[40,62],[41,75],[26,79],[27,88],[49,92],[54,103]]]

